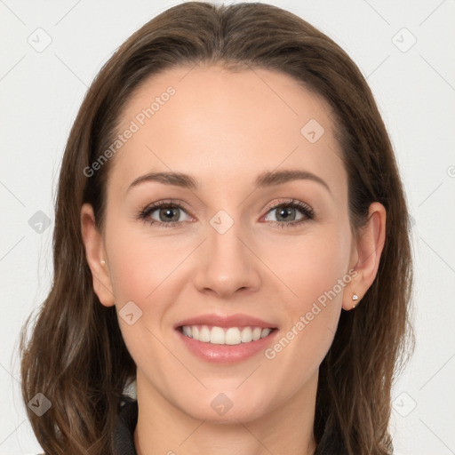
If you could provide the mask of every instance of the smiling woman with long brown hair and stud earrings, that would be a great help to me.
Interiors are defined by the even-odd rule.
[[[21,343],[39,443],[392,453],[408,235],[387,131],[337,44],[268,4],[170,8],[101,69],[68,138],[52,290]]]

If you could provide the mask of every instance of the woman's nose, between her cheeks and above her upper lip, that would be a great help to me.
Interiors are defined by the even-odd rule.
[[[198,249],[194,278],[198,291],[228,298],[237,291],[259,290],[260,260],[248,235],[240,231],[237,223],[224,233],[208,226],[207,238]]]

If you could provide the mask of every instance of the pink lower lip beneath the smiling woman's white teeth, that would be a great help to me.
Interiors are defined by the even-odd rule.
[[[212,363],[237,363],[264,351],[275,339],[277,329],[271,331],[266,338],[260,338],[239,345],[216,345],[192,339],[176,329],[186,347],[197,357]]]

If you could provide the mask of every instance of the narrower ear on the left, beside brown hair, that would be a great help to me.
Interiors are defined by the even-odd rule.
[[[103,237],[95,225],[95,216],[91,204],[82,206],[81,231],[85,246],[85,257],[92,271],[93,290],[102,305],[112,307],[115,305],[115,299],[109,276],[108,259]]]

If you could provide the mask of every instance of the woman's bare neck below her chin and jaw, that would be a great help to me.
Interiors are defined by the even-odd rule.
[[[167,401],[138,369],[138,423],[134,444],[138,455],[314,455],[317,375],[288,402],[258,419],[226,423],[194,419]],[[228,414],[227,414],[228,415]]]

